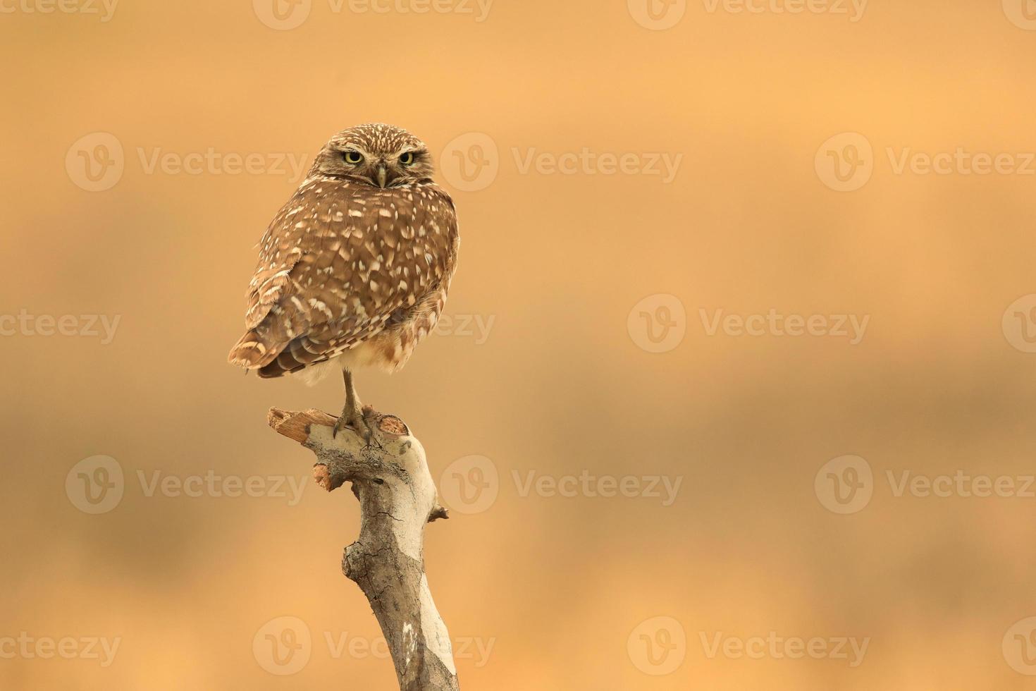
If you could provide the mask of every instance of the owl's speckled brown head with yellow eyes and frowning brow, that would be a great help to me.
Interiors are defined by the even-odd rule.
[[[313,162],[311,174],[385,189],[428,179],[433,172],[424,142],[402,127],[374,123],[332,137]]]

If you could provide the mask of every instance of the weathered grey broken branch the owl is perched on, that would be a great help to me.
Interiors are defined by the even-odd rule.
[[[359,499],[359,538],[342,571],[363,589],[388,642],[402,691],[456,690],[445,624],[425,577],[425,523],[449,518],[439,506],[425,450],[402,420],[375,413],[370,443],[351,429],[332,437],[336,419],[319,410],[271,408],[279,434],[317,456],[313,476],[332,491],[346,482]]]

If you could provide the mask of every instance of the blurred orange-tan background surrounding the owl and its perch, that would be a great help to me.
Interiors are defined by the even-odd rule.
[[[265,424],[339,382],[225,362],[367,121],[461,220],[452,325],[357,377],[454,509],[461,688],[1034,688],[1032,3],[277,1],[0,2],[0,688],[396,688]]]

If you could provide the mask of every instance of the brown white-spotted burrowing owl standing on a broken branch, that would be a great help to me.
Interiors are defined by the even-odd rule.
[[[352,370],[403,367],[445,304],[460,238],[428,147],[387,124],[332,137],[266,229],[249,284],[247,333],[229,359],[261,377],[336,368],[335,427],[369,436]]]

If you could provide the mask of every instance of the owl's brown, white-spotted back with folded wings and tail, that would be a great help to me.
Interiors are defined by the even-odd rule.
[[[260,242],[231,363],[280,376],[363,343],[450,279],[457,237],[453,201],[432,183],[307,182]]]

